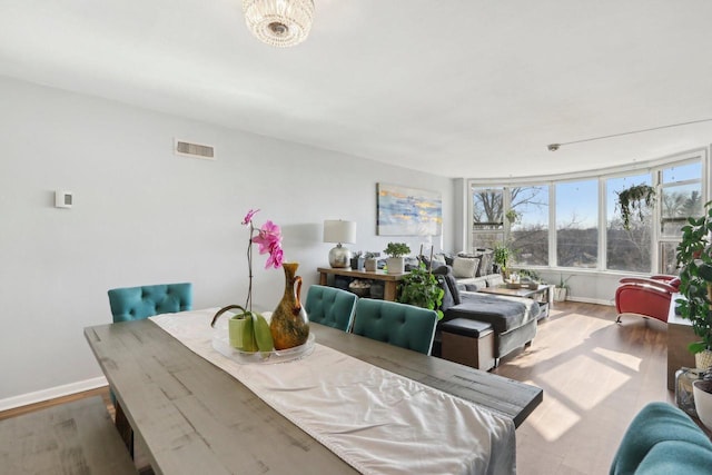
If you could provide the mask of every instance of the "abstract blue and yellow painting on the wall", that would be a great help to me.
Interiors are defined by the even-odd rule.
[[[438,191],[377,184],[378,236],[439,236],[443,197]]]

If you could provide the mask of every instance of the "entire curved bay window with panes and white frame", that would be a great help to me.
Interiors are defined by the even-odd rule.
[[[676,274],[681,227],[701,216],[708,149],[645,164],[511,182],[471,180],[471,248],[507,243],[516,266]],[[655,206],[623,229],[617,192],[655,188]]]

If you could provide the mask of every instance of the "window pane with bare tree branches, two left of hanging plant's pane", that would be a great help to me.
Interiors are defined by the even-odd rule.
[[[510,228],[514,261],[548,265],[548,187],[512,188],[511,201],[516,212]]]

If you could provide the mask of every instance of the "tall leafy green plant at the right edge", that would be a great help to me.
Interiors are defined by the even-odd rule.
[[[700,218],[688,218],[682,227],[682,240],[676,255],[680,269],[680,294],[676,300],[683,318],[692,321],[692,329],[701,342],[688,346],[691,353],[712,350],[712,201],[704,205],[705,214]]]

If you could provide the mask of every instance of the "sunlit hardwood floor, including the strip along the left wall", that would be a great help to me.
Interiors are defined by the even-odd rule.
[[[540,321],[525,350],[493,373],[544,389],[544,402],[520,426],[517,474],[605,474],[629,423],[649,402],[672,402],[666,389],[666,326],[623,317],[614,307],[562,303]],[[0,419],[108,389],[0,413]]]

